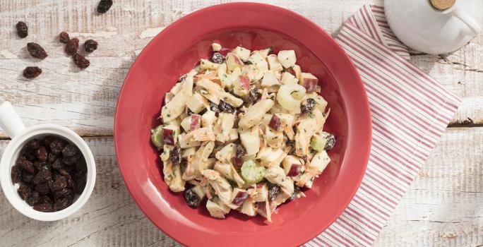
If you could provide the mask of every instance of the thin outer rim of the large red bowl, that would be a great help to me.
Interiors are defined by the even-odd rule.
[[[206,7],[206,8],[201,8],[198,11],[193,11],[192,13],[189,13],[188,15],[180,18],[179,20],[174,21],[174,23],[171,23],[170,25],[167,26],[167,28],[162,30],[162,32],[160,32],[156,37],[154,37],[153,40],[151,40],[143,48],[143,51],[135,59],[135,61],[133,62],[133,65],[131,66],[129,72],[126,74],[126,78],[124,79],[124,83],[123,83],[123,85],[121,87],[121,91],[119,93],[119,99],[118,99],[118,102],[117,102],[116,113],[115,113],[115,116],[114,116],[114,146],[115,146],[115,151],[116,151],[116,155],[117,155],[117,158],[118,158],[119,169],[121,170],[121,176],[123,177],[124,182],[126,183],[126,188],[128,189],[129,193],[131,194],[131,197],[136,202],[136,205],[138,205],[138,207],[141,209],[141,211],[148,217],[148,219],[150,219],[150,221],[153,222],[153,224],[155,224],[155,226],[158,229],[161,229],[165,234],[167,234],[172,239],[179,241],[180,243],[187,245],[187,246],[193,244],[193,241],[189,241],[186,238],[182,238],[181,236],[179,236],[179,234],[175,234],[174,229],[172,229],[172,227],[171,227],[171,229],[167,229],[166,225],[163,227],[162,224],[160,224],[159,222],[155,222],[155,220],[151,218],[152,215],[150,215],[148,212],[146,212],[147,209],[144,208],[142,203],[140,203],[138,201],[138,198],[136,198],[136,193],[134,192],[134,188],[132,188],[129,185],[129,180],[126,179],[126,174],[124,172],[122,172],[124,166],[121,164],[121,161],[119,159],[119,154],[120,154],[120,150],[119,150],[120,149],[120,147],[119,147],[120,146],[120,144],[119,144],[119,138],[120,137],[119,137],[119,135],[121,135],[121,131],[120,131],[120,128],[119,128],[119,125],[121,125],[121,123],[119,123],[119,121],[120,121],[119,120],[119,105],[121,103],[121,100],[123,99],[123,96],[126,94],[124,87],[126,86],[126,82],[129,80],[130,76],[132,76],[131,74],[133,73],[133,68],[135,68],[135,66],[139,64],[138,61],[143,59],[143,57],[146,55],[146,51],[148,49],[150,49],[151,47],[155,46],[155,43],[157,43],[158,40],[161,40],[161,37],[163,35],[165,35],[165,33],[170,32],[170,30],[176,28],[176,26],[179,23],[189,21],[189,19],[196,17],[198,14],[208,12],[208,11],[214,11],[214,10],[223,11],[223,10],[227,10],[229,8],[239,8],[239,7],[266,8],[269,11],[279,11],[280,13],[285,13],[286,15],[290,15],[294,18],[298,18],[301,22],[304,23],[304,25],[309,25],[309,26],[311,26],[311,28],[316,29],[319,32],[319,34],[325,35],[328,38],[327,39],[328,42],[333,44],[335,46],[335,49],[338,49],[338,52],[340,52],[340,54],[342,54],[343,57],[341,57],[341,59],[344,59],[345,61],[347,61],[347,65],[349,66],[347,68],[347,70],[350,71],[350,73],[352,73],[355,76],[355,79],[356,79],[354,81],[354,85],[352,85],[352,86],[354,88],[357,88],[357,90],[360,90],[361,95],[363,95],[362,105],[360,106],[361,109],[358,112],[358,114],[362,115],[362,122],[360,123],[360,126],[359,126],[360,128],[357,128],[357,129],[365,131],[365,133],[363,133],[363,138],[361,140],[359,140],[360,143],[362,143],[362,145],[360,147],[361,147],[362,150],[364,150],[364,155],[363,155],[362,159],[359,159],[359,160],[362,161],[362,166],[363,166],[363,167],[361,167],[362,172],[360,174],[357,174],[357,178],[354,179],[354,184],[357,184],[357,186],[354,186],[352,188],[352,190],[350,191],[349,199],[347,201],[345,201],[343,207],[340,207],[340,209],[338,210],[338,213],[334,214],[333,217],[330,218],[330,223],[326,224],[326,226],[322,227],[321,229],[316,230],[316,232],[314,231],[312,234],[306,234],[306,236],[304,236],[304,238],[298,239],[297,245],[300,245],[300,244],[306,243],[307,241],[310,241],[311,239],[314,239],[316,236],[318,236],[318,234],[321,234],[322,231],[326,230],[327,227],[329,227],[330,224],[335,222],[335,219],[337,219],[340,216],[340,214],[342,214],[342,212],[344,212],[347,205],[349,205],[349,203],[351,202],[355,193],[359,189],[360,183],[362,182],[362,179],[363,179],[365,171],[366,171],[367,163],[369,161],[369,151],[370,151],[370,148],[371,148],[371,135],[372,135],[371,130],[372,130],[372,128],[371,128],[371,113],[370,113],[370,109],[369,109],[369,99],[366,95],[366,90],[364,88],[364,84],[362,83],[362,79],[360,78],[359,73],[357,72],[357,69],[355,68],[354,64],[352,64],[352,61],[350,61],[349,56],[347,56],[347,54],[342,49],[342,47],[340,47],[340,45],[337,42],[335,42],[335,40],[333,40],[333,37],[331,37],[330,34],[328,34],[325,30],[323,30],[321,27],[316,25],[316,23],[314,23],[313,21],[309,20],[308,18],[305,18],[304,16],[301,16],[299,13],[295,13],[295,12],[287,10],[285,8],[273,6],[273,5],[270,5],[270,4],[259,4],[259,3],[248,3],[248,2],[217,4],[215,6],[209,6],[209,7]],[[240,26],[240,27],[242,27],[242,26]],[[123,94],[123,92],[124,92],[124,94]],[[352,114],[354,114],[354,113],[352,113]],[[176,224],[174,224],[174,225],[176,225]],[[290,242],[290,243],[292,243],[292,242]],[[290,243],[285,243],[285,244],[290,244]]]

